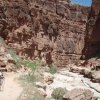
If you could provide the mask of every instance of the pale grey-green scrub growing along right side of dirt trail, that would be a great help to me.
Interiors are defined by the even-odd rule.
[[[45,100],[45,98],[40,94],[39,90],[34,84],[36,81],[41,80],[39,73],[20,76],[19,80],[21,80],[23,91],[18,97],[18,100],[22,100],[23,97],[25,100]]]

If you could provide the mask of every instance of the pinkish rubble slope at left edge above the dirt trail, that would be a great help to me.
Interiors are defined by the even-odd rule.
[[[0,72],[14,71],[14,66],[15,61],[9,52],[8,46],[3,38],[0,37]]]

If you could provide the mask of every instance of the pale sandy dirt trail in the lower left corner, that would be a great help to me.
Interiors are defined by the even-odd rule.
[[[7,73],[5,75],[4,90],[0,92],[0,100],[17,100],[22,92],[22,87],[15,78],[18,77],[15,73]]]

